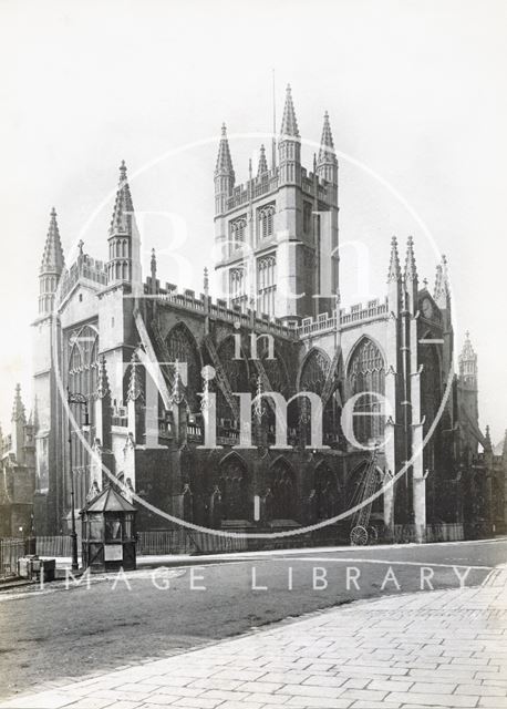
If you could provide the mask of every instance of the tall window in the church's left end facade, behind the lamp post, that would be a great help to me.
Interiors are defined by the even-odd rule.
[[[97,384],[99,367],[99,335],[96,330],[85,325],[81,330],[74,330],[69,337],[69,374],[68,384],[70,393],[84,394],[89,401],[90,423],[94,424],[94,395]],[[76,427],[83,433],[84,407],[72,405],[72,415]],[[82,442],[81,435],[72,433],[72,474],[74,475],[75,507],[80,510],[86,502],[90,491],[90,455]],[[69,463],[68,463],[69,471]],[[68,480],[70,491],[70,480]],[[70,493],[69,493],[70,494]],[[70,505],[68,494],[66,504]]]

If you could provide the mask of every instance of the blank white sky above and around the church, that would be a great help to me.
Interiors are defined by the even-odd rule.
[[[324,2],[52,2],[0,0],[0,420],[13,387],[30,383],[30,321],[54,205],[64,248],[114,189],[120,161],[133,175],[173,148],[204,146],[134,177],[138,209],[177,213],[193,270],[163,280],[200,288],[213,245],[213,169],[219,126],[268,132],[271,69],[277,112],[292,84],[300,132],[318,141],[328,109],[337,148],[381,175],[421,216],[448,257],[456,346],[472,332],[479,357],[480,421],[496,442],[507,428],[505,195],[507,3],[494,0]],[[278,121],[279,123],[279,121]],[[240,181],[260,138],[231,140]],[[303,150],[307,165],[311,148]],[[436,256],[392,195],[346,161],[340,166],[341,239],[361,239],[371,295],[384,295],[392,234],[413,234],[420,277]],[[111,201],[83,234],[105,258]],[[167,243],[147,223],[145,261]],[[342,254],[345,300],[361,298]]]

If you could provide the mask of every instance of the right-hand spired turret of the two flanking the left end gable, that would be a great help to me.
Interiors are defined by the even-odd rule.
[[[120,165],[120,181],[111,219],[107,285],[141,284],[141,244],[134,216],[125,161]]]

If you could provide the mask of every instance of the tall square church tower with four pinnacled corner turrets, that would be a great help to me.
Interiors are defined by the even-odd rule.
[[[331,315],[338,290],[338,161],[324,115],[319,161],[301,163],[290,85],[269,168],[260,146],[257,172],[236,184],[225,126],[215,169],[216,270],[221,297],[242,312],[300,322]]]

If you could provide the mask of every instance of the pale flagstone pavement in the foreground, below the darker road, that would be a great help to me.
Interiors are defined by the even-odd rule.
[[[0,702],[61,707],[507,708],[507,565],[479,587],[358,602]]]

